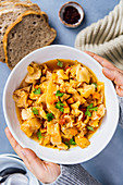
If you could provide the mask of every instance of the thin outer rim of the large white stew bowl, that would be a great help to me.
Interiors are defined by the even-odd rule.
[[[7,102],[7,101],[5,101],[5,99],[7,99],[8,84],[10,83],[11,77],[12,77],[13,74],[15,73],[16,69],[20,67],[20,65],[23,63],[23,61],[24,61],[26,58],[29,58],[30,55],[35,54],[37,51],[40,51],[40,50],[44,50],[44,49],[47,49],[47,48],[51,48],[51,47],[52,47],[52,48],[56,48],[56,47],[57,47],[57,48],[58,48],[58,47],[61,48],[61,47],[62,47],[62,48],[64,48],[64,49],[66,48],[66,49],[75,50],[75,51],[77,51],[77,52],[79,52],[79,53],[82,53],[82,54],[87,55],[90,60],[94,60],[94,61],[97,63],[97,65],[102,69],[102,66],[101,66],[94,58],[91,58],[89,54],[87,54],[87,53],[85,53],[85,52],[83,52],[83,51],[81,51],[81,50],[78,50],[78,49],[76,49],[76,48],[69,47],[69,46],[64,46],[64,45],[51,45],[51,46],[46,46],[46,47],[44,47],[44,48],[39,48],[39,49],[30,52],[29,54],[25,55],[25,57],[15,65],[15,67],[12,70],[12,72],[10,73],[10,75],[9,75],[9,77],[8,77],[8,79],[7,79],[7,83],[5,83],[5,86],[4,86],[4,89],[3,89],[2,106],[3,106],[3,113],[4,113],[5,122],[7,122],[7,125],[8,125],[9,130],[10,130],[10,132],[12,133],[13,137],[17,140],[17,143],[19,143],[22,147],[24,147],[24,148],[25,148],[25,145],[21,141],[20,138],[17,138],[17,137],[15,136],[15,134],[14,134],[14,132],[13,132],[13,128],[12,128],[11,125],[10,125],[10,121],[9,121],[9,119],[8,119],[8,116],[7,116],[7,108],[5,108],[5,102]],[[110,81],[110,82],[111,82],[111,81]],[[114,86],[113,86],[113,83],[112,83],[112,82],[111,82],[111,86],[112,86],[112,88],[114,89]],[[114,90],[114,91],[115,91],[115,90]],[[116,92],[115,92],[114,96],[115,96],[115,98],[116,98]],[[60,162],[60,161],[53,159],[51,162],[60,163],[60,164],[76,164],[76,163],[86,162],[86,161],[93,159],[94,157],[96,157],[97,155],[99,155],[99,153],[108,146],[108,144],[111,141],[111,139],[112,139],[112,137],[113,137],[113,135],[114,135],[114,133],[115,133],[118,123],[119,123],[119,112],[120,112],[120,109],[119,109],[118,98],[116,98],[116,102],[115,102],[115,103],[116,103],[116,111],[118,111],[118,114],[116,114],[116,123],[113,125],[113,130],[112,130],[112,132],[110,133],[110,136],[109,136],[108,139],[107,139],[107,143],[104,143],[104,145],[102,145],[99,150],[97,150],[97,151],[96,151],[94,155],[91,155],[90,157],[86,157],[86,160],[77,160],[76,162],[69,162],[69,161],[67,161],[67,162],[63,162],[63,161]],[[46,158],[44,157],[44,160],[50,161],[47,157],[46,157]]]

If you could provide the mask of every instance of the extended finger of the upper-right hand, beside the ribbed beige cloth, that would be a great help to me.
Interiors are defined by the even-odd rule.
[[[93,57],[97,62],[99,62],[103,67],[108,67],[108,69],[116,69],[111,62],[109,62],[107,59],[101,58],[90,51],[84,51],[87,54],[89,54],[90,57]]]

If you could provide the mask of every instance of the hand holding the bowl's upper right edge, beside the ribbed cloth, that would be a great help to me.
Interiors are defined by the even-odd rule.
[[[111,62],[109,62],[104,58],[101,58],[89,51],[85,52],[93,57],[97,62],[99,62],[103,66],[102,73],[104,74],[106,77],[108,77],[115,84],[116,94],[123,97],[123,71],[114,66]]]

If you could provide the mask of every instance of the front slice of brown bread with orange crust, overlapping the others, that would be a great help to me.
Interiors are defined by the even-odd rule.
[[[41,12],[26,11],[7,28],[3,37],[8,66],[12,70],[29,52],[50,45],[56,36]]]

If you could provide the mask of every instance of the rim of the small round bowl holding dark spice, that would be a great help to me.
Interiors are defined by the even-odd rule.
[[[75,23],[75,24],[69,24],[69,23],[66,23],[65,21],[63,21],[63,18],[61,17],[61,11],[62,11],[62,9],[66,5],[69,5],[70,3],[73,3],[73,4],[76,4],[76,5],[78,5],[81,9],[82,9],[82,12],[83,12],[83,15],[81,14],[81,21],[78,21],[77,23]],[[74,7],[74,5],[73,5]],[[78,9],[77,9],[78,10]],[[77,3],[77,2],[75,2],[75,1],[67,1],[67,2],[65,2],[61,8],[60,8],[60,10],[59,10],[59,18],[60,18],[60,21],[61,21],[61,23],[62,24],[64,24],[66,27],[71,27],[71,28],[75,28],[75,27],[77,27],[78,25],[81,25],[81,23],[83,22],[83,20],[84,20],[84,9],[83,9],[83,7],[79,4],[79,3]]]

